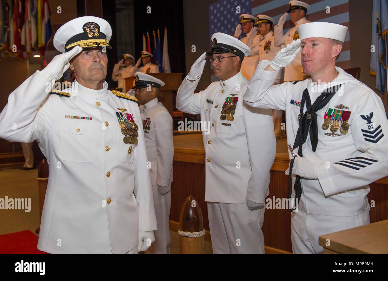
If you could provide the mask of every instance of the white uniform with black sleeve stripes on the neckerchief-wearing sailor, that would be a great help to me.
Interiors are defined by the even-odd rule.
[[[286,110],[287,141],[293,145],[303,91],[308,88],[314,103],[324,88],[314,91],[311,79],[271,86],[277,71],[264,71],[268,64],[266,60],[259,63],[244,100],[254,107]],[[310,134],[303,145],[303,157],[318,165],[318,179],[301,179],[298,211],[291,215],[294,253],[321,253],[320,235],[368,224],[368,184],[388,174],[388,121],[383,103],[365,84],[339,67],[336,70],[339,75],[333,83],[343,83],[342,91],[331,98],[326,108],[316,112],[316,151],[312,151]],[[341,105],[346,108],[341,109]],[[348,133],[327,135],[331,131],[321,127],[327,114],[348,122]],[[367,119],[371,114],[374,128],[362,117]]]

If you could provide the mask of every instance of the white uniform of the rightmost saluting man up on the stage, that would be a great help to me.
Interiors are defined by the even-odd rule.
[[[298,33],[296,32],[296,29],[301,24],[305,24],[307,22],[310,22],[310,21],[308,21],[305,17],[303,17],[302,19],[300,19],[295,23],[295,26],[293,28],[288,29],[288,31],[284,35],[283,35],[283,26],[276,24],[274,26],[275,45],[279,47],[281,47],[282,45],[287,46],[292,41],[298,39],[299,37],[298,37]],[[284,78],[283,78],[284,82],[303,80],[303,76],[307,75],[303,72],[301,53],[302,52],[299,52],[298,55],[296,55],[295,59],[291,62],[291,64],[289,64],[287,67],[284,68]]]

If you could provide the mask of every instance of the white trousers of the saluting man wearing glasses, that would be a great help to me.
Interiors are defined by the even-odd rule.
[[[208,202],[211,246],[215,254],[263,254],[263,209],[246,204]]]

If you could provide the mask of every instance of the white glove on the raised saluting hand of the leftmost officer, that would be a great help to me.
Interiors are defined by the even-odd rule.
[[[69,61],[82,51],[80,46],[76,46],[67,53],[56,55],[50,63],[40,71],[45,78],[53,81],[61,79],[66,70],[70,67]]]

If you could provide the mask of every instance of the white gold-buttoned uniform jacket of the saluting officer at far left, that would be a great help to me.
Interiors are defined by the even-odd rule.
[[[2,138],[36,140],[49,163],[38,249],[131,251],[139,231],[156,229],[143,131],[136,146],[125,144],[116,117],[118,108],[126,109],[140,125],[137,103],[108,91],[106,82],[92,90],[75,81],[71,97],[52,94],[37,110],[50,82],[36,71],[9,95],[0,115]]]

